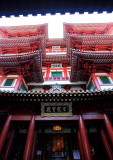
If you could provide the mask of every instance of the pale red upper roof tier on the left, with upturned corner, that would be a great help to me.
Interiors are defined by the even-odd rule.
[[[0,39],[1,54],[18,54],[40,49],[45,53],[44,35]]]

